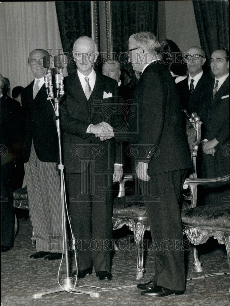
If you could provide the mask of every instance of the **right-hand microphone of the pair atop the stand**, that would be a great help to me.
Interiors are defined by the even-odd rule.
[[[56,88],[60,89],[59,94],[60,96],[64,95],[64,75],[63,75],[63,68],[67,67],[67,56],[64,54],[55,55],[53,57],[53,64],[55,68],[59,69],[59,72],[55,74],[55,83]]]

